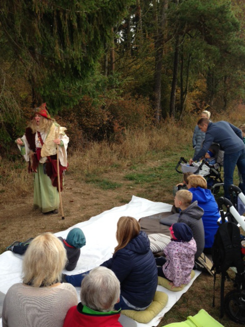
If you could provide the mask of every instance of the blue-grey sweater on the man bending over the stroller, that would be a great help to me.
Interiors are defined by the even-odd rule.
[[[201,150],[194,155],[196,161],[203,157],[212,143],[218,143],[220,149],[227,154],[232,154],[244,149],[242,131],[236,126],[221,120],[217,123],[209,123],[205,133],[205,140]]]

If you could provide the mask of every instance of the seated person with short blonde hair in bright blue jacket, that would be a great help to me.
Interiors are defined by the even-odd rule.
[[[214,243],[214,235],[219,227],[217,224],[220,218],[219,208],[213,194],[207,189],[207,181],[203,176],[190,175],[187,180],[187,188],[192,193],[192,202],[197,201],[199,207],[204,210],[202,216],[205,234],[204,253],[210,254]]]

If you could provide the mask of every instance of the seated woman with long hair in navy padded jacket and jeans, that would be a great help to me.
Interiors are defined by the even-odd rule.
[[[118,220],[116,239],[118,245],[112,258],[101,264],[111,269],[120,281],[120,302],[115,307],[144,310],[151,304],[157,287],[157,268],[149,238],[140,231],[135,218],[124,216]],[[88,273],[63,275],[63,281],[81,286]]]

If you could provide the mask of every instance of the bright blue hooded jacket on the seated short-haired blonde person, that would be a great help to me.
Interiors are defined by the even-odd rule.
[[[201,187],[191,187],[189,191],[192,193],[192,202],[197,201],[199,207],[204,210],[202,216],[205,246],[204,248],[211,248],[214,243],[214,235],[219,226],[217,220],[220,218],[218,204],[210,190]]]

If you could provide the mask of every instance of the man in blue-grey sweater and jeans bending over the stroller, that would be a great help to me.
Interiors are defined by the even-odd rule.
[[[241,191],[245,194],[245,145],[242,132],[236,126],[219,121],[212,123],[208,118],[201,118],[197,122],[198,127],[205,132],[205,140],[201,150],[189,160],[189,164],[203,157],[213,142],[219,143],[220,149],[224,151],[224,196],[230,199],[229,185],[233,184],[235,167],[241,172],[243,183],[239,184]]]

